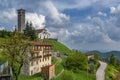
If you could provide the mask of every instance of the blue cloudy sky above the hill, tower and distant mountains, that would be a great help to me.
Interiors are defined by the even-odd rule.
[[[120,51],[120,0],[0,0],[0,30],[17,26],[20,8],[71,49]]]

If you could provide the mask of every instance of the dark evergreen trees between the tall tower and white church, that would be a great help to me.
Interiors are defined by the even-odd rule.
[[[35,40],[37,39],[36,33],[35,33],[35,29],[33,28],[32,23],[26,23],[26,28],[24,30],[24,35],[29,37],[30,40]]]

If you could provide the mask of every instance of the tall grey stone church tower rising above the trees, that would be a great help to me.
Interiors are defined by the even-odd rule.
[[[25,29],[25,10],[19,9],[18,10],[18,32],[23,33]]]

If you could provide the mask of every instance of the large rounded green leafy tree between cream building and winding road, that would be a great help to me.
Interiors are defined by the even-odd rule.
[[[74,53],[65,61],[65,67],[68,70],[73,70],[74,72],[78,72],[79,70],[87,69],[87,57],[81,53]]]

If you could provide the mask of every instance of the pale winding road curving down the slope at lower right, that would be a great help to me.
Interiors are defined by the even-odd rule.
[[[107,64],[105,62],[99,61],[100,67],[98,68],[96,72],[96,80],[104,80],[105,78],[105,69],[107,67]]]

